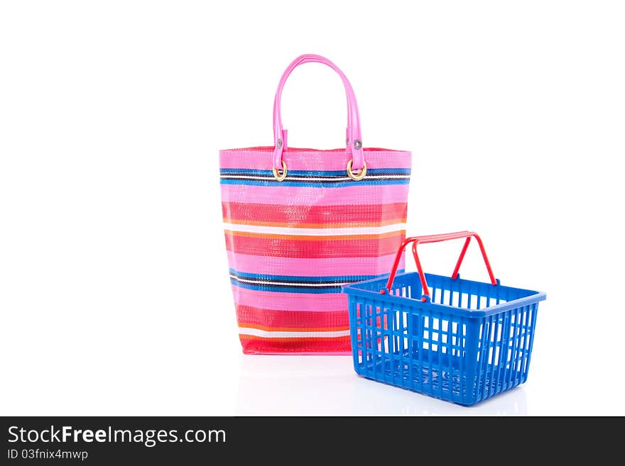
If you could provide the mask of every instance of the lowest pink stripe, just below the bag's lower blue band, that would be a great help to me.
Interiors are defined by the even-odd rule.
[[[347,296],[342,293],[308,294],[261,292],[232,285],[234,302],[274,311],[346,311]]]

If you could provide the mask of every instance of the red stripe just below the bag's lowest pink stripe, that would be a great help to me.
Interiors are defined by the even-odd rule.
[[[330,331],[349,329],[347,311],[271,311],[237,304],[239,326],[272,329]]]

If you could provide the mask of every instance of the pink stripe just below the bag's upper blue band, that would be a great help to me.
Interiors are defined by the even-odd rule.
[[[222,184],[222,202],[283,204],[287,206],[338,206],[406,202],[408,184],[360,185],[343,188],[297,186],[245,186]]]

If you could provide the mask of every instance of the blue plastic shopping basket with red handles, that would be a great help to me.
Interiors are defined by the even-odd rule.
[[[472,237],[491,283],[458,275]],[[467,239],[452,277],[424,274],[417,245],[457,238]],[[418,272],[396,274],[409,243]],[[406,238],[388,280],[349,284],[343,291],[349,296],[352,355],[359,375],[466,405],[527,379],[538,301],[545,294],[501,286],[476,233]]]

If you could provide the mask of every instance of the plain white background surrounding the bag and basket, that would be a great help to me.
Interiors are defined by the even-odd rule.
[[[2,2],[0,414],[625,414],[624,23],[618,1]],[[218,150],[271,144],[301,53],[351,79],[365,146],[413,151],[409,233],[477,231],[502,283],[547,292],[522,387],[467,409],[349,357],[241,355]],[[283,103],[290,145],[342,146],[331,70]]]

